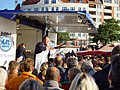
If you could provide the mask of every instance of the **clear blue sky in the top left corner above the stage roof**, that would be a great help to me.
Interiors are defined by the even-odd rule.
[[[18,0],[18,3],[21,3],[22,0]],[[0,0],[0,10],[8,9],[14,10],[16,7],[15,0]]]

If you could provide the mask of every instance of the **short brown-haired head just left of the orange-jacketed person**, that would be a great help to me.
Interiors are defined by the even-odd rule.
[[[18,74],[19,63],[17,61],[10,61],[8,70],[9,70],[10,73]]]

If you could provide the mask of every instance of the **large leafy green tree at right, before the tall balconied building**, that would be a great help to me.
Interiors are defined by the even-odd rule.
[[[120,39],[120,21],[112,19],[107,19],[102,25],[98,28],[97,34],[92,34],[94,38],[93,42],[100,41],[104,45],[109,42],[117,41]]]

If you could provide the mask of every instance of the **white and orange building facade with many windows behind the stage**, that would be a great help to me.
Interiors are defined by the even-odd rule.
[[[106,19],[120,20],[119,0],[26,0],[21,10],[25,11],[86,11],[98,28]],[[71,39],[88,43],[88,33],[70,33]]]

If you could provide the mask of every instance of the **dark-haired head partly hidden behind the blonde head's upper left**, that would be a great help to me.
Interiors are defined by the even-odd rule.
[[[75,76],[78,73],[82,73],[82,71],[80,69],[78,69],[77,67],[73,67],[73,68],[69,69],[68,78],[69,78],[70,82],[72,82],[72,80],[75,78]]]

